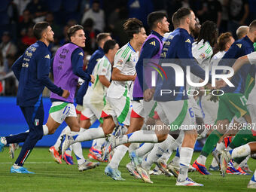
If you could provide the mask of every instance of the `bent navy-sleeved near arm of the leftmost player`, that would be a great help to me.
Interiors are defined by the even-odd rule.
[[[39,50],[40,51],[40,50]],[[43,54],[43,56],[42,56]],[[47,55],[47,53],[39,53],[37,55],[37,77],[38,80],[41,81],[41,84],[43,84],[45,87],[48,88],[53,93],[58,94],[59,96],[62,96],[63,90],[60,87],[57,87],[55,84],[53,84],[52,81],[50,81],[49,78],[49,72],[50,72],[50,58],[46,58],[44,55]]]

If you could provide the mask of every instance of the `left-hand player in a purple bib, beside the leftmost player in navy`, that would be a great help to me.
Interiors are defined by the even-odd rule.
[[[47,123],[44,125],[44,135],[53,134],[58,126],[65,120],[70,127],[71,134],[78,134],[80,125],[73,104],[75,90],[78,85],[78,78],[94,83],[93,75],[89,75],[83,70],[85,36],[83,26],[75,25],[68,29],[70,43],[59,47],[53,59],[53,78],[55,84],[66,87],[70,90],[70,96],[67,99],[61,99],[56,94],[51,93],[50,107]],[[78,160],[78,170],[84,171],[92,169],[99,163],[89,162],[84,159],[81,143],[72,146]],[[63,157],[63,156],[62,156]]]

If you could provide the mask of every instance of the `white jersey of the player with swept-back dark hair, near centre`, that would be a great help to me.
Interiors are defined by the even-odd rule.
[[[125,44],[114,56],[114,66],[120,70],[123,75],[136,75],[136,63],[139,59],[139,51],[135,51],[130,43]],[[133,81],[112,81],[108,87],[107,96],[119,99],[127,90],[130,96],[130,89]]]

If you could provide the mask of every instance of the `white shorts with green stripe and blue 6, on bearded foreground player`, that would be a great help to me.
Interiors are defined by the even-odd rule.
[[[157,114],[169,130],[196,130],[196,117],[190,99],[157,102]]]

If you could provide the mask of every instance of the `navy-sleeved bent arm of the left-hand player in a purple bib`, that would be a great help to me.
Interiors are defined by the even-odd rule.
[[[71,60],[72,60],[72,70],[75,75],[77,75],[79,78],[84,79],[84,81],[93,80],[94,82],[93,75],[89,75],[83,70],[84,53],[80,49],[74,50],[71,56]]]

